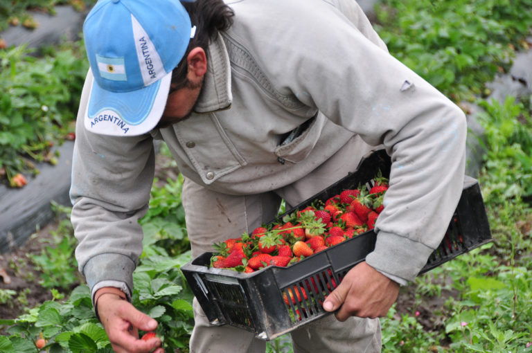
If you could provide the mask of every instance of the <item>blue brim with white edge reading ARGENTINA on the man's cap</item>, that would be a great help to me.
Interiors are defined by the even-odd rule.
[[[114,136],[136,136],[150,132],[163,115],[172,71],[148,87],[130,92],[110,92],[92,81],[85,111],[85,128]]]

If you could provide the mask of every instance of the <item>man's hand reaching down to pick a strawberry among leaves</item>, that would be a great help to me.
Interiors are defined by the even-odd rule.
[[[130,302],[113,293],[105,293],[98,298],[98,314],[107,332],[109,341],[116,353],[148,353],[160,347],[161,340],[157,337],[148,341],[139,339],[139,329],[152,331],[157,321],[135,309]],[[153,353],[163,353],[162,348]]]

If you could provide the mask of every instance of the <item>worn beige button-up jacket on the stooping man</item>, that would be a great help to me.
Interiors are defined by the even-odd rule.
[[[464,114],[389,55],[354,0],[228,3],[234,24],[209,46],[193,116],[136,137],[100,136],[78,123],[72,221],[89,286],[132,287],[142,251],[137,219],[154,174],[152,138],[166,141],[185,177],[218,192],[254,194],[312,172],[353,134],[383,145],[393,161],[366,261],[412,280],[461,194]],[[89,73],[85,87],[91,80]],[[80,111],[86,104],[84,89]]]

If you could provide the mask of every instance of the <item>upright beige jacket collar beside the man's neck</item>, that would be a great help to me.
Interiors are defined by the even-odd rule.
[[[224,40],[218,34],[207,48],[207,72],[194,111],[205,114],[229,109],[232,101],[231,64]]]

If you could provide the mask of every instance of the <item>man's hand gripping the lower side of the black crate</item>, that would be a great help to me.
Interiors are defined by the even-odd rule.
[[[335,311],[339,321],[349,316],[360,318],[377,318],[385,316],[396,301],[399,284],[390,280],[373,267],[360,262],[349,270],[339,286],[332,291],[323,309]]]

